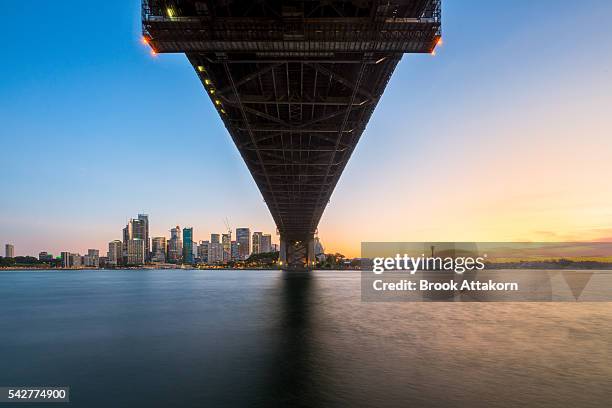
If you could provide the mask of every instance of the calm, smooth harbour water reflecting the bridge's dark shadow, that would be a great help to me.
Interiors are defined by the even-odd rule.
[[[68,385],[78,407],[609,407],[612,303],[362,303],[354,272],[2,272],[8,385]]]

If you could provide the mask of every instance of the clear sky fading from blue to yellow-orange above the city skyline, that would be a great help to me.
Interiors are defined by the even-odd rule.
[[[612,240],[612,2],[443,1],[405,55],[319,225],[362,241]],[[184,55],[140,42],[140,3],[2,6],[0,243],[106,251],[130,217],[273,234]],[[3,252],[3,251],[2,251]],[[2,253],[1,255],[4,255]]]

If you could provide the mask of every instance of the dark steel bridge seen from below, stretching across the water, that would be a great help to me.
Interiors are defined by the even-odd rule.
[[[154,53],[185,53],[276,222],[314,265],[326,204],[404,53],[432,53],[441,0],[143,0]]]

